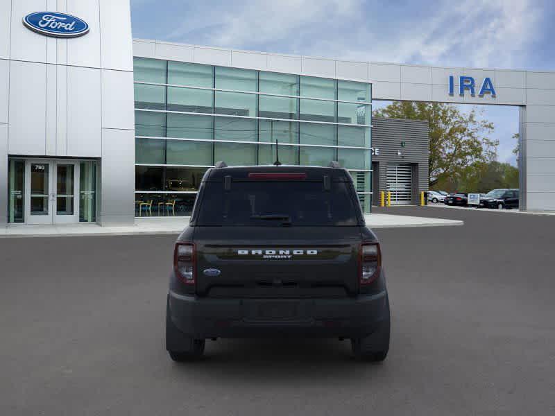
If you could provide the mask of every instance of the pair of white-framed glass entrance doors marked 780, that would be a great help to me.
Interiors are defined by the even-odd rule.
[[[78,223],[79,164],[71,160],[39,159],[29,159],[26,164],[26,222]]]

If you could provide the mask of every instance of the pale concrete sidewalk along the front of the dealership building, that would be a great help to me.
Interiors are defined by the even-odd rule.
[[[390,214],[366,214],[370,228],[438,227],[463,225],[460,220],[423,218]],[[127,227],[101,227],[97,224],[74,225],[8,225],[0,229],[2,237],[62,237],[62,236],[123,236],[132,234],[179,234],[189,224],[188,217],[140,218]]]

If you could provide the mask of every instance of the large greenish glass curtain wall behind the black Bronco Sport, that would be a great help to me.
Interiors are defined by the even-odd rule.
[[[352,174],[370,211],[371,85],[135,58],[135,215],[188,216],[204,172],[285,164]]]

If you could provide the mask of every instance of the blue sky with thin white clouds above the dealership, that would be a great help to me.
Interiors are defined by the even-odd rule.
[[[131,18],[133,37],[144,39],[357,61],[555,70],[553,0],[131,0]],[[516,164],[511,137],[518,107],[480,109],[495,125],[497,159]]]

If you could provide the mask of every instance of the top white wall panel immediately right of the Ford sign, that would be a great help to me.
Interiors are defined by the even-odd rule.
[[[101,65],[133,71],[133,40],[129,0],[98,0],[101,28]]]

